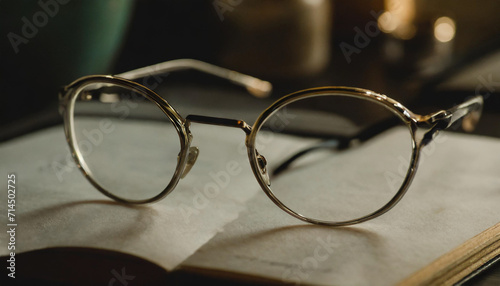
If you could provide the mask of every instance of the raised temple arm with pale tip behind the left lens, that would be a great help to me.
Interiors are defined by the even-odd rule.
[[[271,93],[272,85],[267,81],[235,72],[229,69],[221,68],[198,60],[179,59],[159,63],[152,66],[139,68],[136,70],[117,74],[116,76],[129,80],[136,80],[148,76],[164,74],[173,71],[194,69],[200,72],[208,73],[220,78],[234,82],[245,87],[255,97],[267,97]]]

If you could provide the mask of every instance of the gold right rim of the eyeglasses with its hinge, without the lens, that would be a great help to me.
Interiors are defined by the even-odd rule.
[[[258,160],[258,152],[255,149],[255,139],[257,133],[259,132],[262,125],[265,123],[274,112],[278,111],[281,107],[288,105],[294,101],[305,99],[308,97],[316,96],[350,96],[359,99],[369,100],[376,104],[381,104],[389,109],[392,113],[398,116],[408,127],[410,136],[412,138],[412,156],[410,159],[410,166],[406,173],[406,177],[402,182],[401,187],[397,191],[396,195],[384,206],[382,206],[377,211],[368,214],[366,216],[352,219],[348,221],[332,222],[332,221],[322,221],[311,219],[293,211],[284,205],[272,192],[271,187],[266,182],[267,178],[263,175],[262,168]],[[479,120],[481,110],[483,105],[483,99],[480,96],[472,97],[461,105],[455,106],[449,110],[440,110],[436,113],[429,115],[418,115],[410,111],[408,108],[403,106],[401,103],[395,101],[394,99],[387,97],[383,94],[375,93],[370,90],[352,88],[352,87],[320,87],[306,89],[298,91],[287,96],[282,97],[269,108],[267,108],[257,119],[253,125],[252,132],[246,138],[246,145],[248,149],[248,157],[250,164],[252,166],[252,171],[257,177],[257,181],[260,186],[267,194],[267,196],[281,209],[289,213],[290,215],[314,224],[328,225],[328,226],[345,226],[360,223],[373,219],[377,216],[384,214],[394,207],[404,196],[408,187],[410,186],[415,173],[417,171],[418,162],[420,158],[420,150],[430,143],[430,141],[437,135],[441,130],[451,127],[458,120],[462,120],[463,124],[469,128],[469,126],[475,126]],[[468,130],[471,131],[471,130]]]

